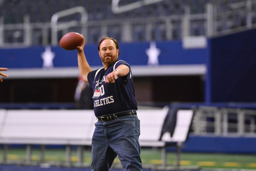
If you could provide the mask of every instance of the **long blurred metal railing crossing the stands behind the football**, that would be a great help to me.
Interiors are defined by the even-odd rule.
[[[83,7],[60,11],[52,16],[50,23],[30,23],[24,16],[24,23],[4,24],[0,17],[0,47],[26,47],[31,45],[58,45],[60,36],[75,31],[84,34],[87,43],[98,43],[103,36],[114,37],[118,41],[168,41],[186,36],[214,37],[254,28],[256,11],[255,0],[230,4],[230,10],[221,11],[221,7],[207,4],[206,13],[191,14],[185,7],[183,15],[148,17],[137,19],[115,19],[87,21],[87,12]],[[81,20],[58,22],[58,18],[81,13]],[[241,24],[240,24],[241,23]],[[51,38],[51,40],[49,40]]]

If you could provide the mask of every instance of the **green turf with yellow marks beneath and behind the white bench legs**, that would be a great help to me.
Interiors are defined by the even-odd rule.
[[[33,149],[32,161],[39,160],[39,149]],[[90,151],[85,151],[84,162],[90,163]],[[64,149],[46,149],[46,161],[65,161]],[[141,149],[141,159],[144,164],[160,165],[161,152],[159,149]],[[0,160],[2,161],[2,151],[0,151]],[[25,148],[9,149],[8,160],[26,160]],[[72,152],[73,162],[77,162],[76,151]],[[116,159],[115,163],[119,160]],[[167,155],[168,166],[175,165],[176,154],[169,152]],[[182,153],[181,166],[200,166],[201,168],[232,168],[232,169],[256,169],[256,155],[238,155],[238,154],[198,154],[198,153]]]

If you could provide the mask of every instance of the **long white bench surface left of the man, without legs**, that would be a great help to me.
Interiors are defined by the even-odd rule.
[[[91,144],[87,139],[94,117],[91,110],[72,115],[67,110],[7,110],[6,115],[1,134],[6,143],[17,140],[22,144],[69,144],[80,139]]]

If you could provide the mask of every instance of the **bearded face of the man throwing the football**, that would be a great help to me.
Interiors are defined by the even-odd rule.
[[[117,60],[118,52],[119,50],[117,49],[114,41],[106,39],[101,42],[99,55],[102,63],[106,66],[111,65]]]

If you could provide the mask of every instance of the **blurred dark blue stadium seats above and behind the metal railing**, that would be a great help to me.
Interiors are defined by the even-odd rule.
[[[137,0],[139,1],[139,0]],[[129,3],[137,2],[134,0],[120,0],[119,5],[127,5]],[[1,2],[1,1],[0,1]],[[114,37],[118,41],[122,41],[121,32],[122,32],[122,21],[131,19],[148,19],[151,17],[174,17],[182,16],[185,13],[186,7],[189,7],[190,14],[201,14],[201,19],[191,19],[190,20],[190,35],[207,35],[206,27],[207,23],[204,18],[206,14],[206,4],[214,4],[216,9],[215,13],[215,31],[228,30],[239,26],[245,26],[247,23],[247,13],[246,9],[232,9],[231,4],[236,2],[246,2],[246,0],[162,0],[157,3],[152,3],[150,5],[144,5],[137,9],[132,9],[122,13],[113,13],[112,11],[112,0],[77,0],[77,1],[68,1],[68,0],[38,0],[38,1],[29,1],[29,0],[5,0],[0,4],[0,16],[4,19],[4,24],[17,24],[24,22],[24,16],[29,16],[30,23],[50,23],[51,17],[53,14],[65,9],[70,9],[77,6],[82,6],[86,9],[88,13],[88,23],[96,23],[97,26],[88,26],[88,43],[98,43],[99,39],[104,36],[101,33],[101,23],[102,21],[108,24],[107,36]],[[255,10],[255,5],[252,5],[252,10]],[[1,18],[0,17],[0,18]],[[72,14],[66,17],[59,19],[60,22],[67,22],[72,20],[80,20],[81,16],[79,13]],[[176,18],[176,17],[174,17]],[[119,20],[121,21],[119,22]],[[156,19],[154,19],[156,20]],[[145,35],[145,24],[133,23],[132,26],[132,41],[133,42],[143,42],[143,41],[165,41],[170,39],[182,39],[182,22],[180,19],[172,20],[172,38],[167,36],[168,30],[165,24],[165,21],[157,19],[157,22],[153,22],[151,38],[148,35]],[[117,25],[113,24],[113,21],[118,23]],[[255,17],[252,15],[252,21],[255,22]],[[162,22],[162,23],[161,23]],[[144,22],[145,23],[145,22]],[[92,25],[94,25],[92,24]],[[69,32],[74,31],[73,28],[69,28]],[[76,30],[80,32],[79,30]],[[5,30],[4,42],[6,43],[21,43],[24,37],[25,32],[18,31],[15,29]],[[17,33],[15,38],[14,33]],[[149,33],[148,33],[149,34]],[[38,31],[33,36],[33,45],[42,44],[42,30]],[[58,37],[58,40],[62,35]],[[150,39],[150,40],[149,40]]]

